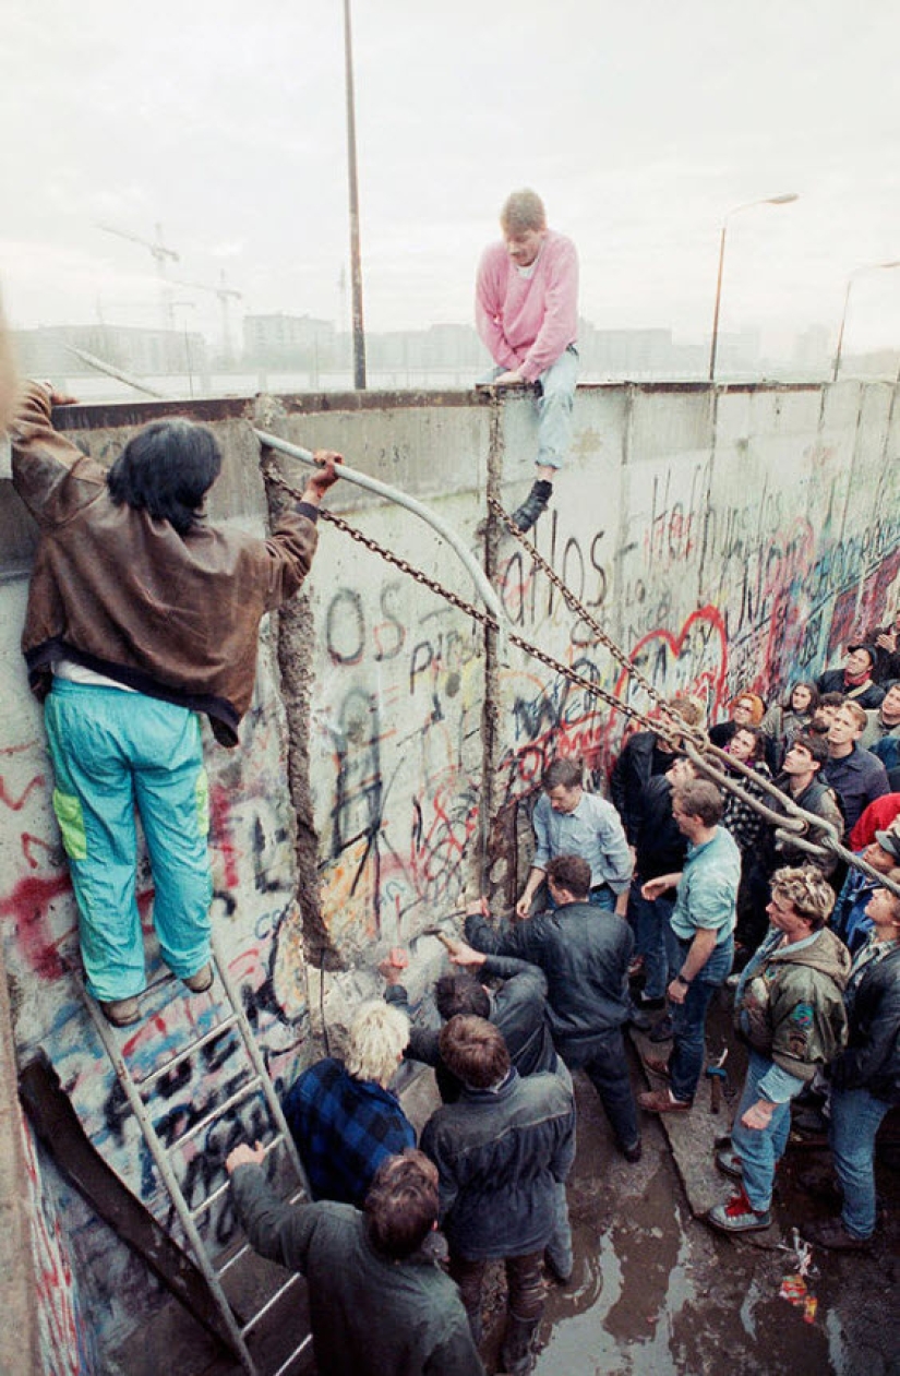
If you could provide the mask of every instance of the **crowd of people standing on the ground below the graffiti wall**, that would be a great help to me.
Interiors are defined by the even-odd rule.
[[[859,647],[849,651],[846,692],[828,674],[824,692],[795,685],[768,711],[757,695],[742,694],[714,729],[728,755],[761,776],[773,773],[784,799],[830,821],[897,886],[900,791],[889,788],[878,742],[859,743],[882,724],[879,707],[893,689],[867,681],[877,656],[868,648],[866,655],[863,663]],[[856,687],[874,692],[875,703],[860,709]],[[676,724],[703,725],[691,698],[672,699],[667,710]],[[739,782],[746,786],[746,776]],[[747,791],[753,798],[753,780]],[[308,1243],[314,1221],[322,1218],[330,1240],[339,1207],[354,1247],[367,1229],[377,1258],[367,1265],[385,1266],[374,1222],[380,1182],[398,1161],[420,1172],[421,1189],[431,1190],[431,1225],[446,1240],[443,1269],[458,1288],[446,1289],[442,1276],[421,1309],[422,1324],[435,1325],[425,1346],[433,1340],[440,1358],[398,1370],[482,1370],[491,1260],[504,1263],[508,1291],[500,1369],[531,1369],[546,1280],[566,1285],[574,1265],[566,1194],[575,1150],[572,1073],[582,1071],[594,1087],[618,1152],[634,1165],[644,1115],[692,1110],[707,1014],[727,984],[747,1073],[729,1145],[714,1156],[733,1189],[709,1211],[710,1226],[733,1236],[772,1225],[791,1105],[815,1088],[827,1105],[842,1211],[805,1221],[802,1234],[835,1251],[864,1249],[874,1236],[875,1138],[900,1102],[900,897],[841,866],[834,852],[813,856],[790,834],[776,838],[744,799],[735,806],[728,788],[699,776],[672,733],[626,740],[611,795],[608,802],[586,791],[581,762],[552,761],[513,912],[495,921],[479,900],[464,937],[444,936],[449,969],[433,989],[440,1025],[413,1020],[406,959],[392,955],[380,966],[384,1002],[359,1010],[345,1061],[310,1066],[289,1090],[288,1121],[318,1203],[279,1204],[249,1146],[228,1159],[253,1244],[310,1277],[321,1265]],[[623,1038],[629,1024],[661,1049],[669,1043],[667,1054],[644,1057],[656,1087],[639,1094]],[[417,1148],[391,1090],[400,1057],[433,1066],[442,1099]],[[392,1256],[384,1314],[396,1313],[398,1267],[410,1269],[410,1303],[418,1306],[422,1267],[440,1270],[435,1234],[416,1236],[416,1248]],[[336,1342],[329,1325],[337,1304],[329,1293],[318,1320],[314,1304],[323,1353]],[[367,1300],[358,1310],[347,1300],[341,1314],[340,1343],[350,1350],[356,1333],[358,1364],[381,1315],[373,1318]]]

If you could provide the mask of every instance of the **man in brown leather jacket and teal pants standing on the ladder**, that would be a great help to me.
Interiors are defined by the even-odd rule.
[[[22,649],[45,705],[87,989],[127,1026],[146,985],[135,805],[162,956],[202,992],[212,882],[198,713],[222,744],[237,744],[260,619],[310,571],[341,457],[319,451],[301,501],[259,539],[204,517],[222,468],[209,429],[154,421],[107,472],[54,431],[51,407],[69,402],[28,384],[11,424],[14,483],[40,526]]]

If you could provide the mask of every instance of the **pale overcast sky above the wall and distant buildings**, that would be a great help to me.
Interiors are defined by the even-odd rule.
[[[241,308],[343,319],[341,0],[3,4],[0,285],[14,326],[156,325],[150,253]],[[897,0],[354,0],[366,326],[472,318],[480,249],[535,187],[599,327],[778,347],[837,333],[900,259]],[[212,294],[180,319],[215,330]],[[900,345],[900,268],[845,348]]]

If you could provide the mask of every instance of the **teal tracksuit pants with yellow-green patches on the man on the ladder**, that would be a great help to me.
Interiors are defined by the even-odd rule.
[[[195,974],[209,959],[212,899],[200,718],[143,694],[56,678],[44,720],[88,991],[109,1003],[146,984],[135,808],[162,958],[179,978]]]

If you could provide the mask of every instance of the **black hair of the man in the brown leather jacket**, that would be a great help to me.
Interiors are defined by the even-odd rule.
[[[113,502],[168,520],[186,535],[222,469],[216,436],[175,416],[153,421],[128,440],[106,475]]]

